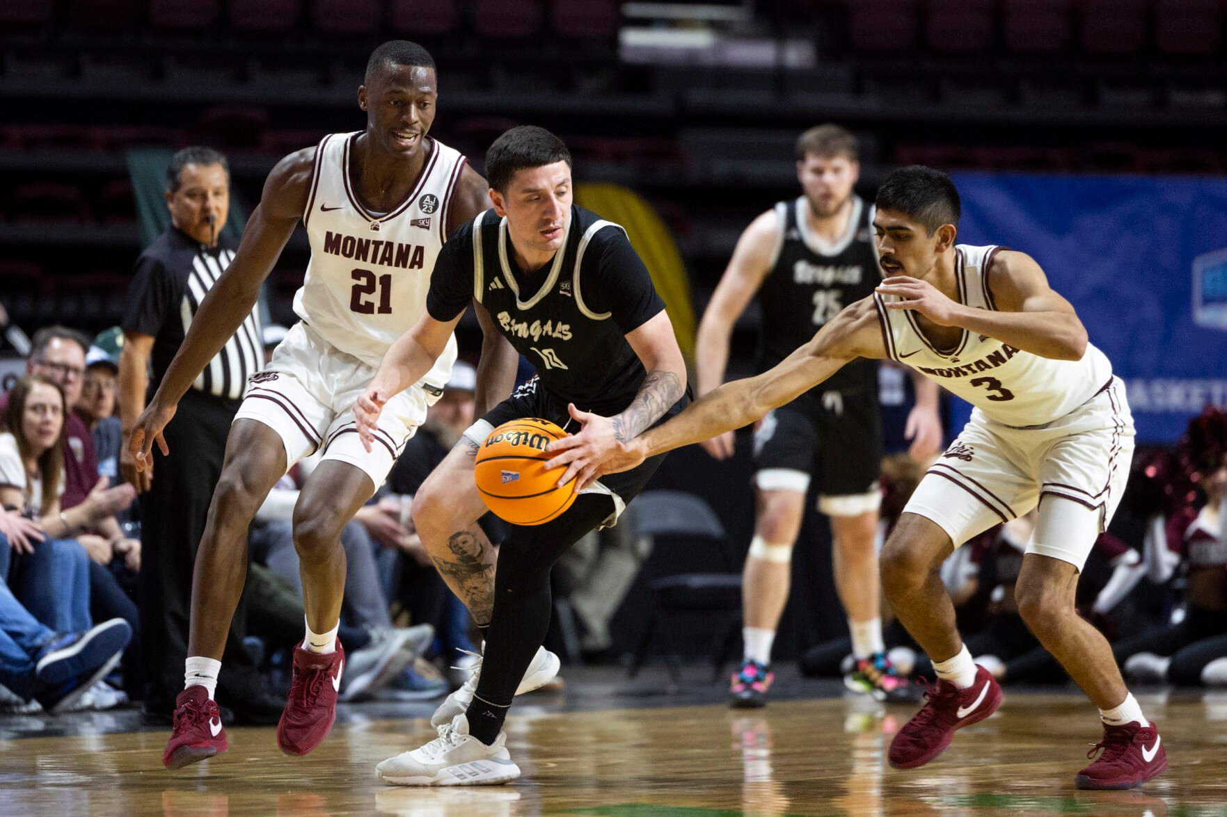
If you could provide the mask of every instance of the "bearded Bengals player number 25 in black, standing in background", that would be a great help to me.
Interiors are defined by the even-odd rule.
[[[729,339],[755,293],[762,305],[757,370],[766,372],[847,304],[881,282],[872,207],[853,193],[859,175],[856,137],[818,125],[796,141],[796,177],[804,195],[780,201],[741,234],[699,323],[698,395],[724,382]],[[913,456],[941,443],[937,386],[915,374],[917,405],[906,434]],[[733,454],[733,432],[702,443],[718,460]],[[762,707],[771,687],[771,649],[788,601],[793,545],[801,530],[811,475],[821,480],[818,510],[831,519],[834,584],[848,616],[856,665],[844,682],[879,699],[910,697],[907,680],[886,659],[880,618],[877,476],[882,429],[877,363],[849,363],[755,429],[755,536],[742,583],[745,656],[733,676],[730,704]]]

